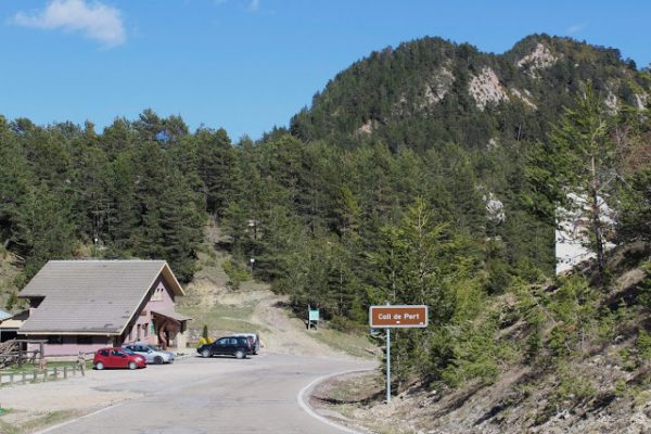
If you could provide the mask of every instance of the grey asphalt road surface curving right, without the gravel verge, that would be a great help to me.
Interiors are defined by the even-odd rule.
[[[302,391],[307,394],[305,387],[324,375],[371,367],[370,362],[275,354],[246,360],[190,357],[173,366],[131,371],[128,380],[102,390],[136,392],[142,394],[140,398],[41,433],[341,434],[346,431],[310,416],[297,396]],[[164,370],[168,370],[166,381],[156,381]],[[174,380],[175,372],[183,373],[179,381]]]

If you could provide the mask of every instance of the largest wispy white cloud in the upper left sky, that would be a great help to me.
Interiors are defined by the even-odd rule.
[[[80,31],[106,47],[116,47],[127,40],[120,12],[99,1],[52,0],[42,11],[16,13],[13,22],[23,27]]]

